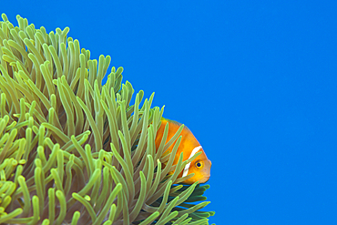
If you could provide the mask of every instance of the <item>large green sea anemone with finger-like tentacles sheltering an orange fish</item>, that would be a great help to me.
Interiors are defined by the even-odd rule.
[[[163,107],[90,59],[69,28],[0,22],[1,224],[208,224],[209,185],[179,184],[179,131],[155,147]],[[165,144],[166,143],[166,144]],[[172,153],[166,152],[174,145]],[[169,171],[175,171],[168,174]]]

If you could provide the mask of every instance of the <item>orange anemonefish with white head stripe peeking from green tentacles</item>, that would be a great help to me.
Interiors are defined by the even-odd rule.
[[[179,122],[169,120],[167,118],[161,118],[161,125],[158,128],[156,136],[156,148],[158,149],[161,139],[164,134],[165,126],[168,124],[168,138],[167,141],[172,138],[181,124]],[[210,176],[210,167],[211,162],[207,158],[205,151],[202,149],[201,145],[197,138],[194,137],[192,132],[186,126],[182,129],[180,136],[182,136],[177,154],[173,161],[173,165],[176,165],[179,160],[180,153],[183,152],[183,160],[192,158],[196,153],[201,151],[201,154],[185,166],[181,171],[178,178],[183,178],[191,173],[194,173],[194,176],[184,180],[182,183],[193,184],[196,181],[199,183],[205,183],[209,180]],[[171,152],[174,145],[171,145],[168,148],[168,151]]]

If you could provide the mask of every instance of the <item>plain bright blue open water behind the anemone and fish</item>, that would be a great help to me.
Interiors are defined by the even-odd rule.
[[[12,23],[69,26],[193,131],[210,223],[337,224],[334,1],[9,2]]]

